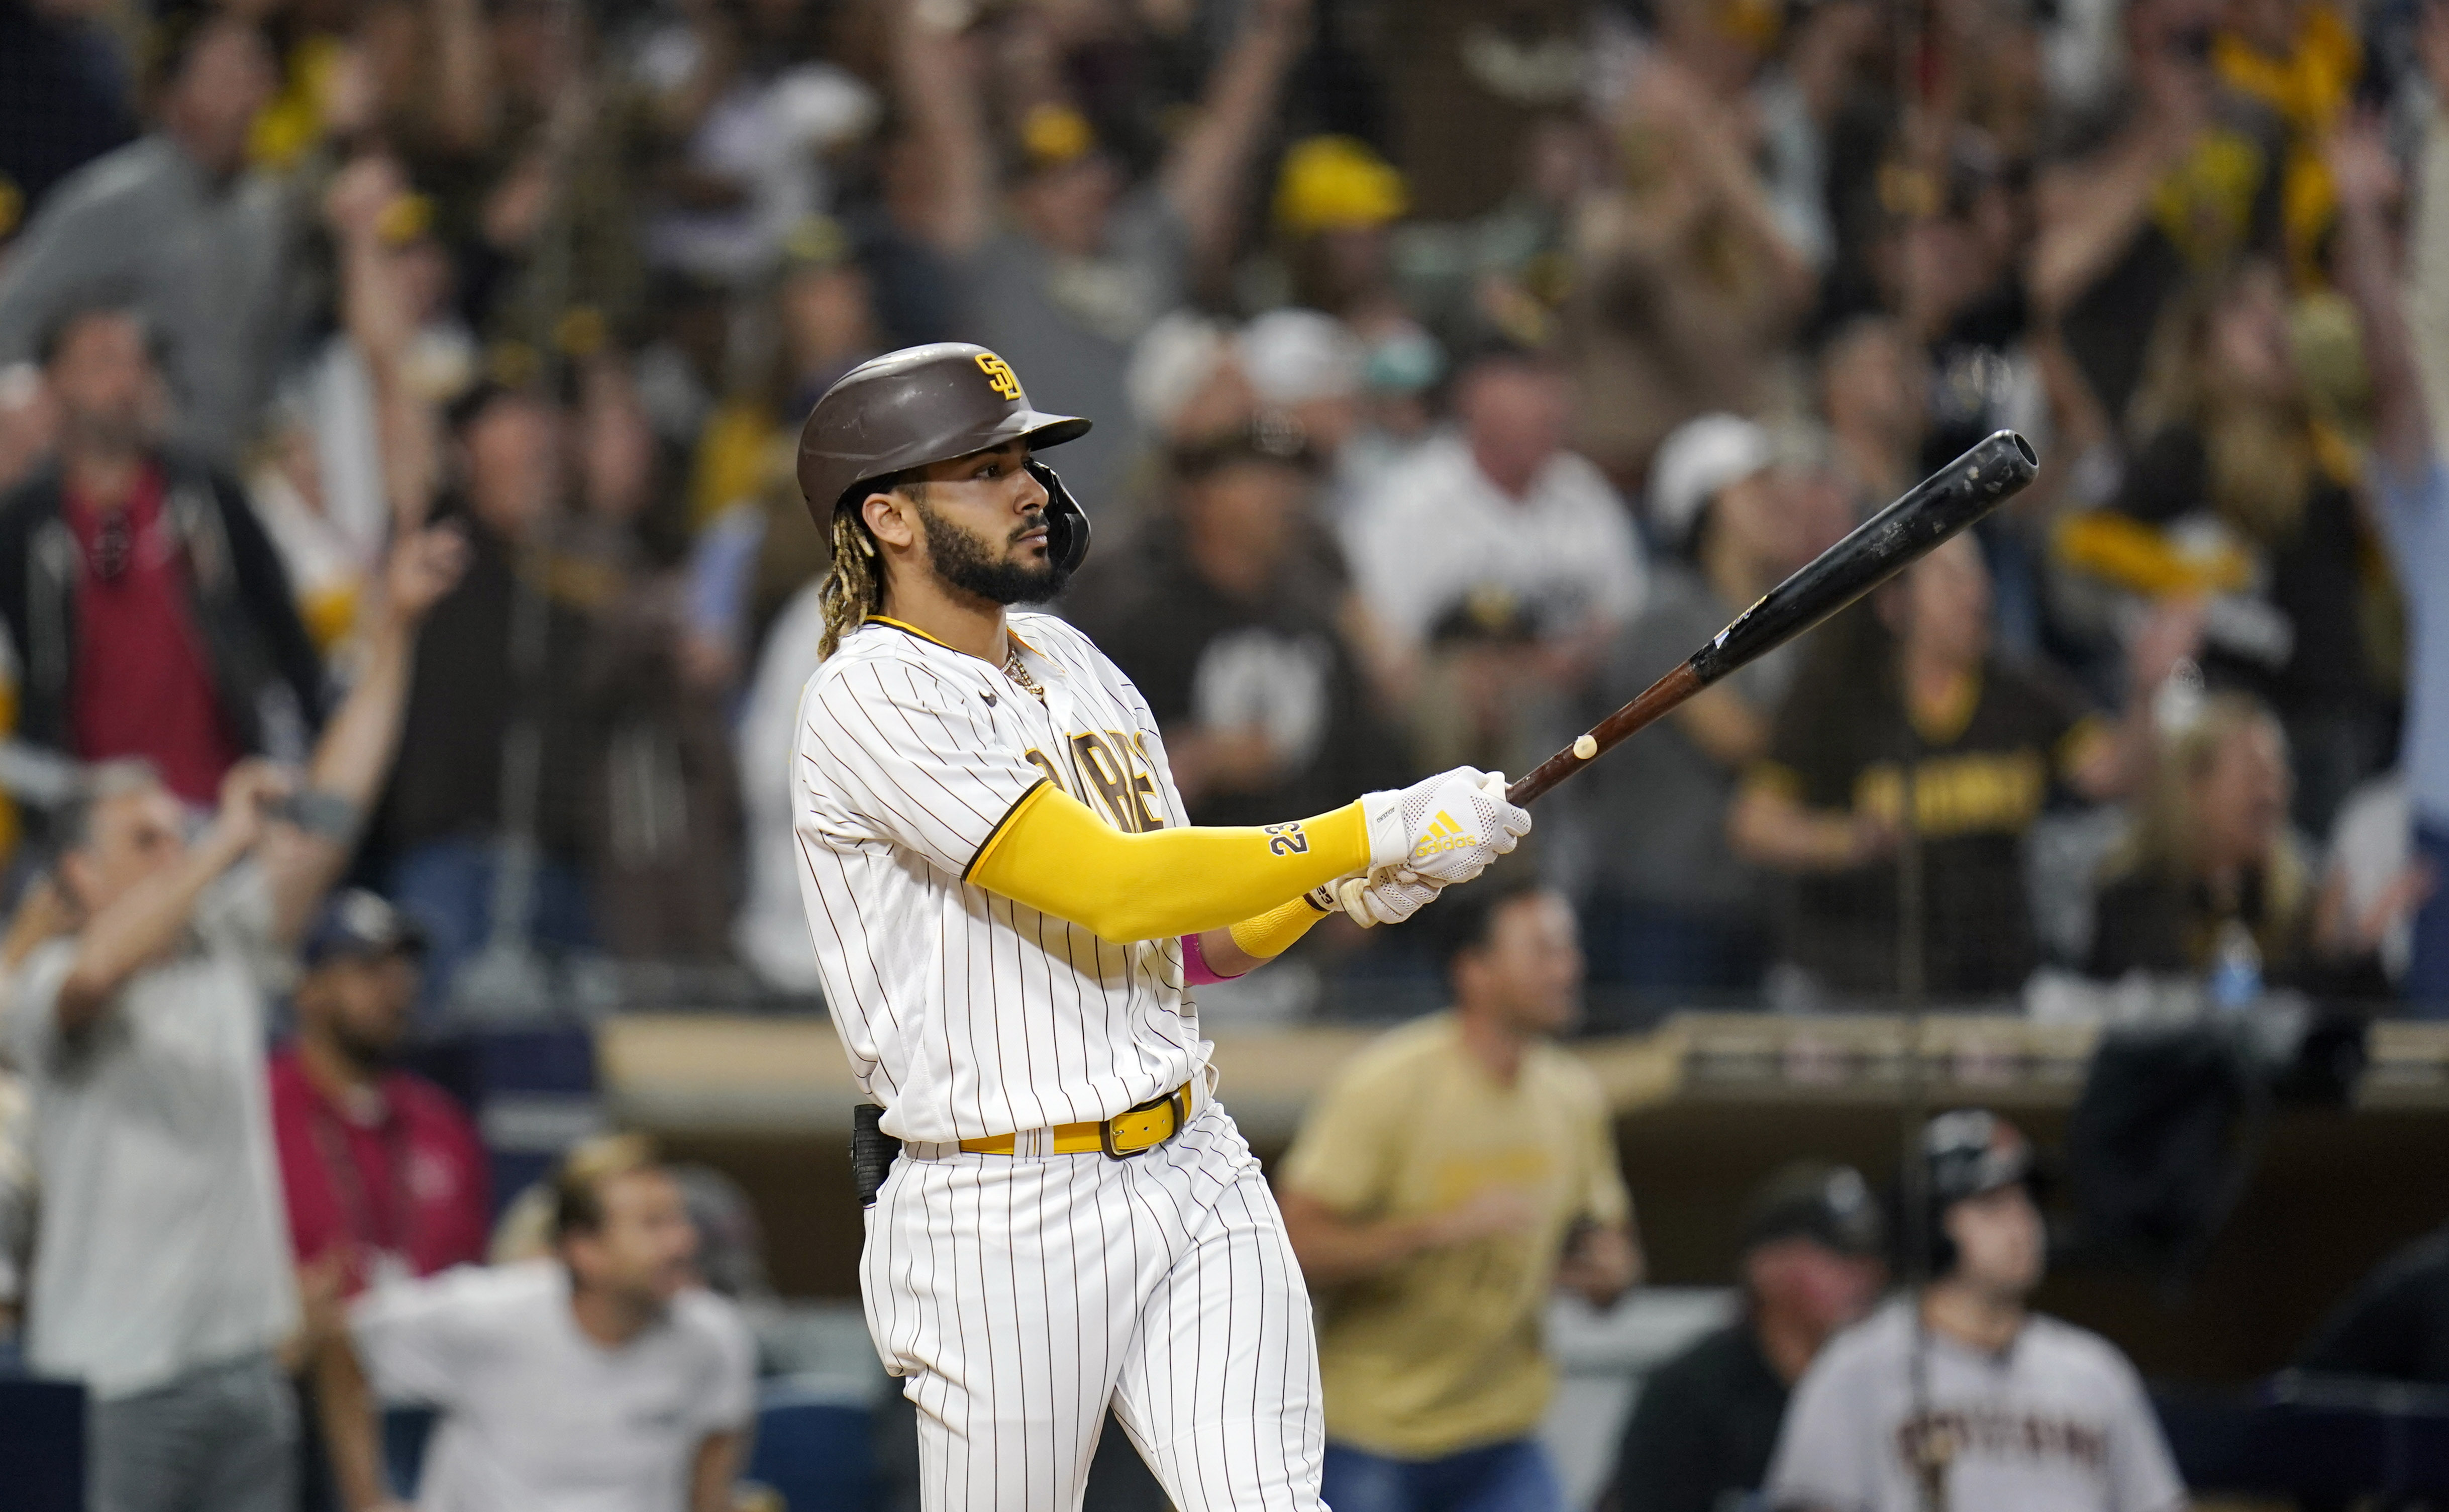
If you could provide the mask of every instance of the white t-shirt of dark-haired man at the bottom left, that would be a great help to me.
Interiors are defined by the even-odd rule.
[[[382,1399],[443,1414],[424,1512],[683,1512],[698,1446],[757,1414],[757,1348],[713,1291],[617,1350],[578,1328],[558,1260],[394,1282],[348,1321]]]

